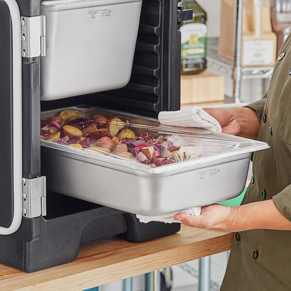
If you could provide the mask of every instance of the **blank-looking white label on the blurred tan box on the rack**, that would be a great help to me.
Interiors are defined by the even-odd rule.
[[[244,40],[242,64],[248,66],[270,65],[274,63],[275,43],[267,40]]]

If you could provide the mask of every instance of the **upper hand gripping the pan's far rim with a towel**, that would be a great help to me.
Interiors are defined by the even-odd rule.
[[[203,108],[221,125],[222,132],[257,139],[259,120],[250,108]]]

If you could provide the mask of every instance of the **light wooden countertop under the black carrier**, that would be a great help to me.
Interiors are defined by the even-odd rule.
[[[229,250],[232,238],[182,225],[177,234],[150,242],[101,239],[83,244],[73,262],[35,273],[0,265],[0,290],[86,290]]]

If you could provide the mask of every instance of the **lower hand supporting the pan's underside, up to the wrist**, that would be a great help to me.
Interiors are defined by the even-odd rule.
[[[233,226],[234,207],[213,204],[201,208],[201,215],[194,216],[185,212],[177,213],[174,219],[188,226],[223,231],[235,231]]]

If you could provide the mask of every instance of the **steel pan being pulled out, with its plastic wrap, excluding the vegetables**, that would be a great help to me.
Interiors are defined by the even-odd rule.
[[[96,108],[79,111],[81,117],[89,119],[95,113],[118,116]],[[58,112],[42,113],[42,118]],[[136,214],[172,213],[240,195],[252,152],[269,147],[223,133],[119,117],[129,120],[136,135],[162,134],[173,146],[183,148],[182,152],[191,159],[151,167],[112,153],[103,155],[42,140],[42,175],[47,177],[50,191]]]

